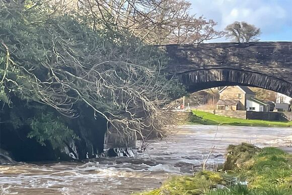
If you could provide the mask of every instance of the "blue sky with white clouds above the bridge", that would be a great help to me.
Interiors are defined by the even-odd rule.
[[[190,12],[218,23],[224,30],[234,21],[261,29],[260,41],[292,41],[292,0],[189,0]],[[226,42],[226,38],[210,42]]]

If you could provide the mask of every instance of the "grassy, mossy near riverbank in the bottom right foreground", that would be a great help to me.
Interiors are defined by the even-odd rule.
[[[173,177],[160,188],[140,194],[292,194],[292,155],[245,143],[230,145],[227,152],[227,160],[219,170]]]

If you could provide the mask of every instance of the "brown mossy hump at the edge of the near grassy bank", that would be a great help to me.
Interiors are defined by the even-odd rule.
[[[247,143],[230,145],[223,170],[250,169],[254,164],[252,157],[260,154],[261,151],[262,149]]]

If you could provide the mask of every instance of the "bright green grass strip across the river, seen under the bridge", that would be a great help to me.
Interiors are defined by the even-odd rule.
[[[193,110],[193,116],[190,118],[191,123],[199,124],[219,124],[219,125],[236,125],[236,126],[280,126],[292,127],[292,121],[268,121],[268,120],[249,120],[240,118],[231,118],[226,116],[218,116],[200,110]]]

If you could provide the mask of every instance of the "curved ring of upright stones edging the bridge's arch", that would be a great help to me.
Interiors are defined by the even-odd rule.
[[[262,73],[231,68],[197,69],[176,74],[189,92],[221,86],[249,86],[268,89],[292,97],[292,84]]]

